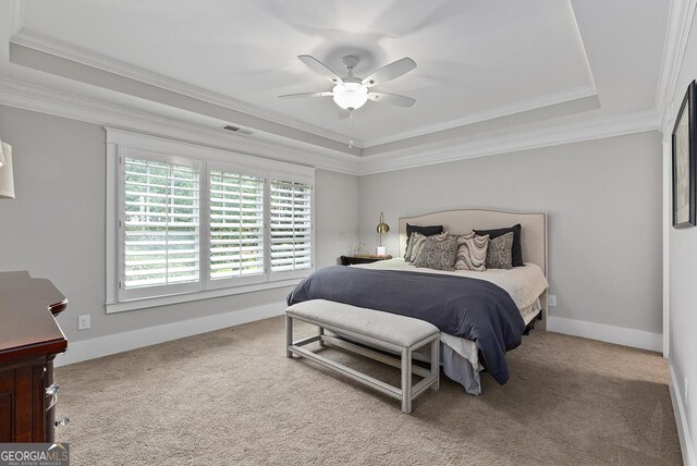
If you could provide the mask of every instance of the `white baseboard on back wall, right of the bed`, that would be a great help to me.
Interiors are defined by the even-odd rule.
[[[582,320],[565,319],[557,316],[549,316],[547,330],[658,353],[663,351],[663,335],[644,330],[606,326],[604,323],[584,322]]]

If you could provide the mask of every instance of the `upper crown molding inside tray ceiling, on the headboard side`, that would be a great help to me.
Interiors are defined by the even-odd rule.
[[[481,123],[488,120],[496,120],[498,118],[509,116],[516,113],[527,112],[530,110],[541,109],[545,107],[555,106],[559,103],[568,102],[572,100],[583,99],[585,97],[597,96],[598,90],[595,86],[583,86],[575,89],[566,89],[554,94],[547,94],[545,96],[535,97],[533,99],[522,100],[519,102],[510,103],[506,106],[494,107],[492,109],[482,110],[480,112],[470,113],[466,116],[450,120],[447,122],[424,126],[416,131],[404,132],[378,139],[365,140],[364,148],[370,148],[372,146],[380,146],[382,144],[390,144],[401,139],[411,137],[425,136],[427,134],[437,133],[439,131],[452,130],[460,126],[467,126],[474,123]]]

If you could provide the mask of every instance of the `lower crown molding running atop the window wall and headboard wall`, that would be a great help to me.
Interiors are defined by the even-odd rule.
[[[8,78],[0,78],[0,105],[353,175],[657,131],[660,122],[660,114],[653,109],[551,125],[543,130],[488,139],[450,139],[389,154],[355,157],[297,142],[292,142],[294,146],[291,146],[288,139],[281,144],[273,144],[254,139],[253,136],[221,135],[219,131],[193,122],[173,120]]]

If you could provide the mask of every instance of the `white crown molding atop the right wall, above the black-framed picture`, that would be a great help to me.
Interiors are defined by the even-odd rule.
[[[668,20],[668,32],[663,45],[661,73],[656,93],[656,108],[661,112],[660,128],[663,134],[672,131],[673,96],[683,64],[687,39],[692,29],[697,0],[672,0]]]

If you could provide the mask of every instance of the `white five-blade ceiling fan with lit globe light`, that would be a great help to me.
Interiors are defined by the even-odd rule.
[[[372,73],[370,76],[362,79],[353,75],[353,69],[358,64],[360,59],[354,56],[346,56],[342,62],[348,71],[344,77],[339,77],[337,73],[331,71],[329,66],[320,62],[311,56],[297,56],[297,58],[309,66],[314,72],[331,81],[334,87],[328,91],[319,93],[302,93],[288,94],[279,96],[281,99],[295,99],[302,97],[333,97],[334,102],[344,110],[356,110],[368,100],[374,102],[386,102],[399,107],[412,107],[415,99],[398,94],[376,93],[370,88],[388,81],[400,77],[416,68],[416,63],[411,58],[403,58],[390,64],[387,64]]]

